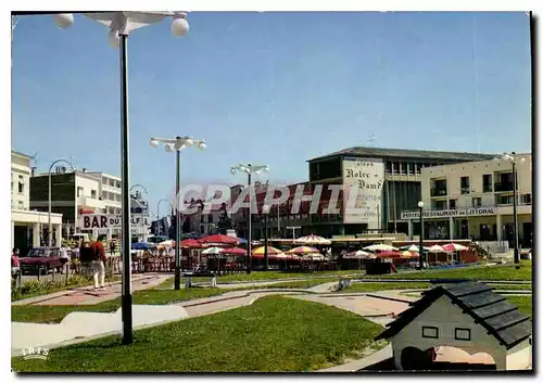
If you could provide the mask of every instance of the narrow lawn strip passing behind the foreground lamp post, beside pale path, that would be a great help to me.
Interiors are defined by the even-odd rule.
[[[167,305],[175,302],[203,298],[224,294],[220,289],[181,289],[175,290],[141,290],[132,295],[135,305]],[[115,298],[97,305],[70,306],[11,306],[11,320],[14,322],[60,323],[72,311],[111,312],[121,307],[121,298]]]

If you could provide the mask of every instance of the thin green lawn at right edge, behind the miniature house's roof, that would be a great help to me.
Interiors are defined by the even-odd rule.
[[[426,270],[417,272],[400,272],[383,276],[366,276],[367,278],[391,278],[391,279],[433,279],[433,278],[469,278],[477,280],[494,281],[531,281],[532,263],[522,260],[520,268],[515,266],[487,266],[487,267],[464,267],[446,270]]]

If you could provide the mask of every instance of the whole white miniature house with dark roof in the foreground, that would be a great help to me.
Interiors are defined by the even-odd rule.
[[[391,341],[396,370],[420,368],[424,363],[414,355],[433,360],[440,346],[488,354],[496,370],[531,367],[532,322],[492,288],[478,282],[439,285],[411,306],[376,337]]]

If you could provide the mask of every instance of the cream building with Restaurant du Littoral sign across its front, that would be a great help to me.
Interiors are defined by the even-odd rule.
[[[519,243],[531,247],[532,155],[517,154],[517,217]],[[475,239],[514,242],[513,165],[479,161],[424,168],[420,175],[426,239]],[[411,227],[419,226],[418,210],[402,212]],[[413,233],[413,230],[409,230]]]

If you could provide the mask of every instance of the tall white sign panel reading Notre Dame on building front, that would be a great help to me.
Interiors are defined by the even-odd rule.
[[[343,222],[379,229],[384,164],[381,158],[343,159]]]

